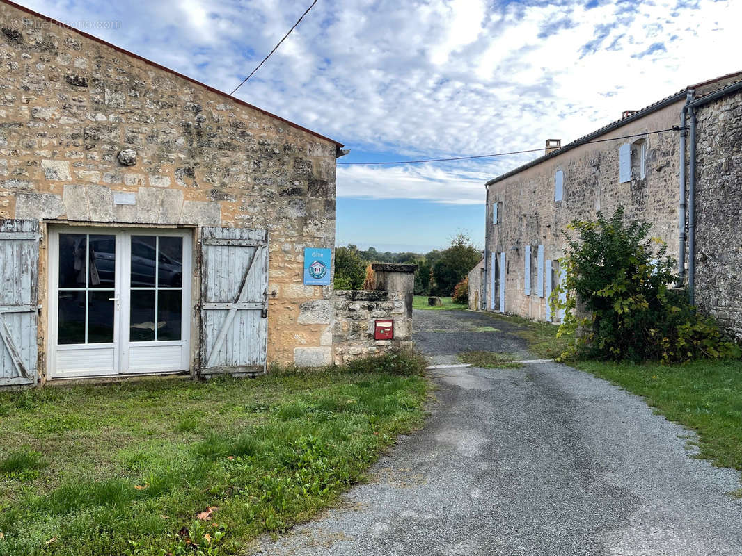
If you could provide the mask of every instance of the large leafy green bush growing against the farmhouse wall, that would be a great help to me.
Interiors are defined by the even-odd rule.
[[[565,356],[610,360],[660,360],[666,363],[700,357],[739,357],[718,325],[698,314],[677,282],[667,245],[649,238],[651,224],[624,222],[619,207],[597,222],[574,220],[568,226],[568,249],[562,264],[566,279],[552,294],[552,306],[565,309],[559,334],[578,331]],[[566,301],[559,301],[565,290]],[[576,316],[577,301],[589,315]]]

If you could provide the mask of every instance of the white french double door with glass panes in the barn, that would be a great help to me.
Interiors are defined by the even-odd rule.
[[[48,376],[186,371],[191,234],[50,228]]]

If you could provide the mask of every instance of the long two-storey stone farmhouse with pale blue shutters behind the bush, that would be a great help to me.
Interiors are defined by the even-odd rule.
[[[653,223],[697,306],[742,337],[742,72],[668,96],[487,182],[487,311],[559,322],[562,229],[611,214]]]

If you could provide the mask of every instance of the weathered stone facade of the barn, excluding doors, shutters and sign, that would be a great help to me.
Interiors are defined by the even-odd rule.
[[[303,285],[303,248],[335,245],[341,145],[4,3],[0,57],[0,218],[191,229],[193,292],[200,226],[267,229],[268,360],[331,362],[332,285]],[[40,369],[44,345],[42,318]]]

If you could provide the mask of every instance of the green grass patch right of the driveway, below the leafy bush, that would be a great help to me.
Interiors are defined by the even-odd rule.
[[[669,420],[697,431],[700,457],[742,471],[742,362],[571,365],[645,397]]]

